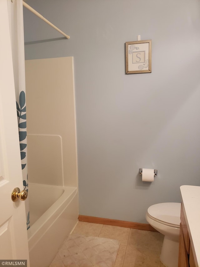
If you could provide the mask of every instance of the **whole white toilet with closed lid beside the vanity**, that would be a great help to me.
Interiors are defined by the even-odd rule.
[[[178,267],[181,203],[159,203],[148,208],[146,220],[164,235],[160,261],[167,267]]]

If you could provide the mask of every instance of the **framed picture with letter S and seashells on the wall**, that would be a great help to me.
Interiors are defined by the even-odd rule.
[[[152,40],[126,42],[126,74],[151,72]]]

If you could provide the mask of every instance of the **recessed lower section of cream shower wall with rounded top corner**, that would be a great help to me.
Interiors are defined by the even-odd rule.
[[[62,138],[27,135],[29,182],[63,186]]]

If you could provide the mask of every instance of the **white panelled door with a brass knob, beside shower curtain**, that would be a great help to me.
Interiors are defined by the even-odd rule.
[[[12,202],[23,189],[7,0],[0,0],[0,259],[27,259],[24,201]]]

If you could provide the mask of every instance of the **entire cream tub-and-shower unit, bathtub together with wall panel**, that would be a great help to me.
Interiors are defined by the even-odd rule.
[[[78,221],[73,58],[25,66],[30,264],[47,267]]]

